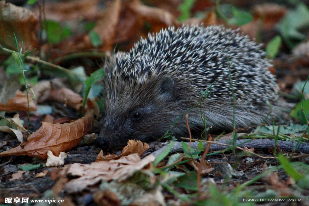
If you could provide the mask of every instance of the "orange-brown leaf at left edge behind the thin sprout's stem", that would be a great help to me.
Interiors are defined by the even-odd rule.
[[[30,104],[30,111],[36,111],[36,105],[33,103],[32,98],[30,95],[29,97],[29,104]],[[13,98],[9,98],[6,101],[6,104],[0,103],[0,111],[28,111],[28,100],[27,95],[24,94],[22,91],[17,90],[15,96]]]

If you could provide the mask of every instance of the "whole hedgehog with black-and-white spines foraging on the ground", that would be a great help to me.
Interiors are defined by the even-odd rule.
[[[206,126],[216,131],[233,129],[234,106],[236,128],[278,116],[276,108],[269,115],[268,105],[279,95],[265,56],[260,44],[224,26],[172,26],[141,38],[104,65],[99,147],[120,149],[130,139],[158,140],[210,85],[209,97],[187,112],[194,137],[205,129],[201,110]],[[170,132],[176,138],[188,135],[184,116]]]

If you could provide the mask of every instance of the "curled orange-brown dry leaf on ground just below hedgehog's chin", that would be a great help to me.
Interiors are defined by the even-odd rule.
[[[138,153],[139,156],[141,156],[144,152],[146,152],[149,149],[149,145],[147,143],[142,143],[141,141],[136,141],[136,140],[129,140],[128,141],[128,145],[125,146],[122,149],[122,153],[118,156],[116,156],[115,154],[108,154],[106,156],[103,155],[103,151],[101,150],[101,152],[98,154],[95,162],[99,162],[99,161],[109,161],[112,159],[119,159],[121,157],[127,156],[129,154],[134,154],[134,153]]]

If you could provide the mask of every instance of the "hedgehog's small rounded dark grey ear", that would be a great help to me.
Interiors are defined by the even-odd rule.
[[[159,94],[164,98],[176,97],[176,86],[174,80],[169,76],[160,79]]]

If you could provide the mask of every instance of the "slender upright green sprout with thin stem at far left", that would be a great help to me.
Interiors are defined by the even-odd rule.
[[[24,80],[24,83],[25,83],[26,93],[27,93],[27,101],[28,101],[28,128],[27,128],[28,132],[27,132],[27,138],[28,138],[29,127],[30,127],[30,117],[29,117],[29,114],[30,114],[30,103],[29,103],[28,89],[30,88],[30,90],[33,93],[32,99],[35,99],[35,94],[34,94],[34,91],[31,89],[31,87],[28,87],[28,85],[27,85],[27,81],[26,81],[26,77],[25,77],[25,71],[26,70],[23,69],[23,59],[25,57],[27,57],[29,54],[31,54],[32,52],[34,52],[36,50],[36,48],[32,49],[30,52],[27,52],[27,53],[23,54],[22,53],[22,51],[23,51],[23,42],[21,43],[21,46],[20,46],[20,49],[19,49],[15,33],[14,33],[14,43],[15,43],[15,46],[16,46],[18,52],[13,51],[12,52],[12,56],[15,59],[17,65],[18,65],[18,67],[20,69],[20,71],[23,73],[23,80]]]

